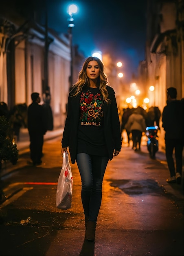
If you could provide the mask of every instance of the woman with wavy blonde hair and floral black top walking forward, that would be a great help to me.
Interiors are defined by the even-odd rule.
[[[109,160],[119,154],[121,132],[114,90],[107,85],[104,65],[88,57],[68,97],[68,115],[61,152],[69,146],[72,164],[81,175],[85,238],[94,241],[102,198],[102,182]]]

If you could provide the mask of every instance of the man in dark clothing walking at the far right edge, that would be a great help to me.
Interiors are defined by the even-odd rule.
[[[166,160],[171,176],[166,181],[180,184],[182,181],[182,151],[184,146],[184,113],[182,101],[177,100],[176,97],[176,88],[168,88],[167,106],[164,107],[162,113],[162,127],[165,130]],[[176,172],[173,150],[175,150]]]

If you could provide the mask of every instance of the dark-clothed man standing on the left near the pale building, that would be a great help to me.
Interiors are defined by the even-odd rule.
[[[39,105],[39,93],[31,94],[32,103],[28,106],[28,132],[30,137],[30,153],[33,165],[42,164],[42,147],[46,133],[46,115],[43,106]]]

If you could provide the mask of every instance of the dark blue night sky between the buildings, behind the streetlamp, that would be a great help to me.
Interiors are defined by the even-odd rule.
[[[73,44],[86,57],[101,51],[123,62],[125,79],[137,74],[145,59],[147,0],[48,0],[48,25],[58,33],[68,31],[69,4],[78,6]]]

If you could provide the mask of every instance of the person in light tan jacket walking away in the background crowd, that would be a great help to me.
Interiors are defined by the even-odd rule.
[[[125,125],[125,128],[132,133],[132,149],[134,150],[140,150],[142,132],[145,132],[146,129],[145,118],[140,113],[140,108],[136,108],[129,116],[127,124]]]

